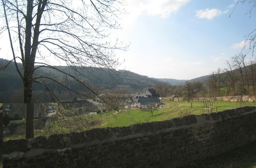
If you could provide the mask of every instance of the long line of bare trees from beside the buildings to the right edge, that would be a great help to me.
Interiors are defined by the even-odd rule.
[[[256,88],[256,64],[254,60],[246,61],[245,55],[236,55],[226,61],[226,67],[218,69],[207,76],[207,80],[186,81],[184,85],[170,85],[161,82],[155,86],[161,97],[178,98],[219,97],[254,95]]]

